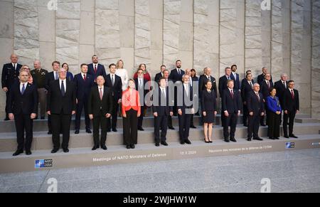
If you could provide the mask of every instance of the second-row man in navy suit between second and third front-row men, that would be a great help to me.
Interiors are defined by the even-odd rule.
[[[87,64],[81,65],[81,73],[75,75],[73,78],[75,87],[77,89],[77,112],[75,114],[75,134],[79,134],[80,120],[82,115],[82,109],[85,108],[85,132],[91,134],[90,119],[87,112],[88,105],[87,100],[90,94],[91,87],[95,80],[92,75],[87,74]]]

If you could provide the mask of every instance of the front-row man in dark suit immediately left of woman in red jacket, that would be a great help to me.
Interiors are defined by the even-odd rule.
[[[93,122],[93,141],[95,145],[92,150],[107,150],[105,142],[107,140],[107,120],[112,114],[113,97],[110,88],[105,87],[105,78],[97,77],[97,86],[90,90],[88,100],[88,113],[90,120]],[[101,126],[101,140],[99,142],[99,129]],[[99,145],[100,144],[100,145]]]

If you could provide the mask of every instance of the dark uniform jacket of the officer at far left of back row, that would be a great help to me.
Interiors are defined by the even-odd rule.
[[[4,64],[4,68],[2,68],[2,76],[1,76],[1,84],[2,88],[8,87],[10,88],[16,80],[18,80],[19,70],[22,65],[16,64],[16,70],[14,70],[14,65],[12,63]]]

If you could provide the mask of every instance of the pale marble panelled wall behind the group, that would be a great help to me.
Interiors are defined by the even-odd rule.
[[[55,9],[57,2],[57,9]],[[100,63],[120,58],[130,75],[146,63],[213,69],[238,65],[257,76],[263,66],[274,80],[296,80],[302,112],[320,117],[320,1],[270,0],[0,0],[0,64],[16,53],[19,62],[68,63],[78,73],[93,54]],[[50,7],[48,8],[48,3]],[[1,92],[3,114],[5,94]]]

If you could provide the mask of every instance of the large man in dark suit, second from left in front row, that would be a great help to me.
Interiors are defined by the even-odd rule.
[[[71,116],[75,114],[76,89],[75,83],[67,80],[67,70],[58,70],[59,79],[50,83],[47,96],[47,111],[51,116],[53,150],[56,153],[60,149],[60,132],[63,133],[63,152],[68,153],[70,139]]]

